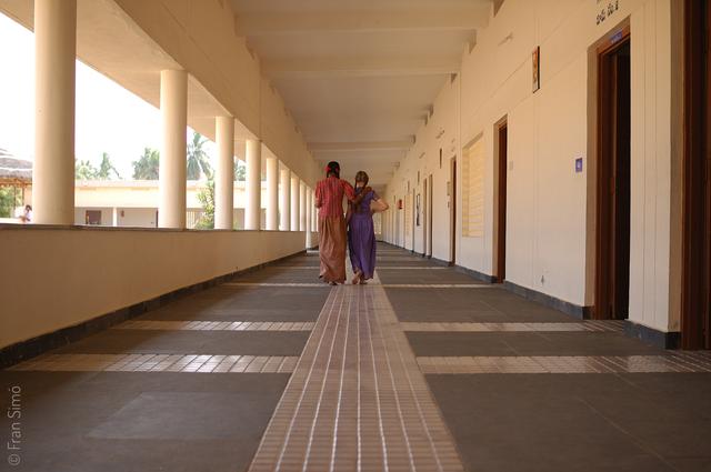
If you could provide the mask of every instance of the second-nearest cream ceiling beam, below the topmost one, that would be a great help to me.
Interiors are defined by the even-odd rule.
[[[271,79],[318,77],[413,77],[459,73],[459,57],[447,58],[262,58],[264,74]]]

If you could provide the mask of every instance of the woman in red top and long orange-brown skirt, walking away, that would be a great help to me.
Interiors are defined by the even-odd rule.
[[[316,185],[316,208],[319,209],[319,278],[336,285],[346,282],[346,219],[343,197],[356,199],[356,191],[340,178],[341,167],[329,162],[326,179]]]

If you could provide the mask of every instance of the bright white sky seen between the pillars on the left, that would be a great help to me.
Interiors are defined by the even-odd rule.
[[[34,159],[34,34],[0,13],[0,148]],[[192,130],[187,132],[192,135]],[[77,61],[76,157],[94,165],[108,152],[122,179],[144,148],[160,148],[160,112]],[[216,145],[206,145],[214,167]]]

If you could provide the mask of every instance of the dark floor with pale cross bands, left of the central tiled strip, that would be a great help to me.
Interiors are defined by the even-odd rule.
[[[268,268],[240,281],[268,277],[314,279]],[[4,393],[21,392],[13,470],[247,470],[328,295],[220,285],[0,371],[3,445]]]

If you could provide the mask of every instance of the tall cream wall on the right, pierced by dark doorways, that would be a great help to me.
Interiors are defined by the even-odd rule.
[[[508,117],[507,279],[577,305],[593,304],[595,43],[623,22],[632,34],[632,215],[630,319],[678,330],[670,303],[672,138],[680,87],[672,44],[681,2],[620,0],[597,24],[597,0],[507,0],[477,46],[463,54],[458,79],[443,84],[434,114],[395,172],[387,195],[434,177],[433,255],[448,259],[448,160],[482,135],[485,149],[484,235],[461,237],[458,188],[457,263],[491,274],[493,267],[494,125]],[[672,31],[675,31],[672,33]],[[541,48],[541,89],[532,92],[531,53]],[[439,138],[438,138],[439,137]],[[444,163],[439,169],[439,149]],[[424,157],[421,155],[424,153]],[[574,172],[575,158],[584,170]],[[459,162],[461,178],[461,162]],[[461,180],[460,180],[461,181]],[[421,190],[418,190],[421,192]],[[387,239],[394,241],[392,227]],[[411,248],[408,240],[407,247]],[[423,245],[415,234],[414,249]],[[675,300],[675,299],[672,299]],[[671,309],[670,309],[671,307]]]

